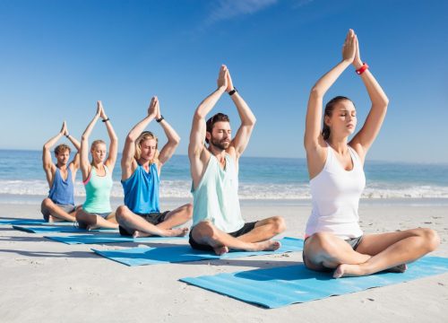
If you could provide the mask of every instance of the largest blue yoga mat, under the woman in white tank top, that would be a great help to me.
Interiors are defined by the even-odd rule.
[[[306,269],[304,265],[297,265],[186,277],[180,280],[240,301],[273,309],[447,272],[448,258],[425,257],[409,264],[408,270],[400,274],[382,272],[334,279],[332,273],[317,273]]]

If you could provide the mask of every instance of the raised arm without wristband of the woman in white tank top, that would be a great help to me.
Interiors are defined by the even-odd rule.
[[[349,30],[342,48],[342,61],[334,66],[330,72],[314,84],[308,99],[306,109],[306,127],[304,144],[307,154],[314,154],[324,146],[322,129],[323,96],[332,84],[340,77],[340,74],[353,62],[355,57],[355,33]],[[318,152],[317,152],[318,153]],[[308,162],[309,163],[309,162]]]

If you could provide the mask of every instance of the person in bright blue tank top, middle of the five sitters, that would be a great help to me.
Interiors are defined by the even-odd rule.
[[[158,150],[158,139],[143,131],[156,119],[167,135],[168,143]],[[175,153],[179,135],[160,114],[159,100],[153,97],[148,115],[135,125],[126,137],[121,160],[121,183],[125,190],[125,205],[116,209],[116,220],[122,235],[146,237],[184,236],[187,228],[173,229],[192,218],[193,206],[186,204],[173,211],[160,212],[159,176],[162,166]]]

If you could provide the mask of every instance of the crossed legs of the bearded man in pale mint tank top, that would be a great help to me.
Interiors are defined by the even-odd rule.
[[[203,221],[192,229],[192,238],[195,242],[209,245],[217,255],[228,252],[228,249],[241,249],[246,251],[276,250],[280,242],[270,240],[275,235],[285,231],[286,225],[282,217],[273,216],[255,223],[253,230],[239,237],[220,231],[211,222]]]

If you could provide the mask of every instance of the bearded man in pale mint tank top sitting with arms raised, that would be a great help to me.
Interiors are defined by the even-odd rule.
[[[241,118],[241,126],[233,139],[227,115],[218,113],[205,122],[224,92],[228,92]],[[234,88],[227,66],[222,65],[218,89],[202,100],[194,112],[188,146],[194,197],[190,245],[194,249],[214,250],[221,255],[228,249],[280,248],[280,242],[271,238],[285,230],[282,217],[245,223],[241,216],[238,160],[246,149],[254,124],[254,114]]]

